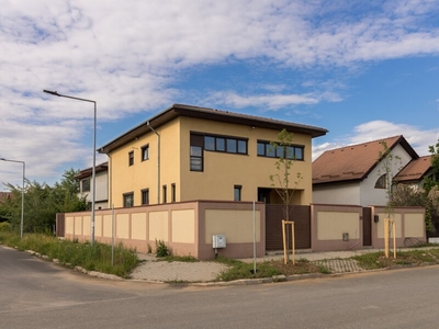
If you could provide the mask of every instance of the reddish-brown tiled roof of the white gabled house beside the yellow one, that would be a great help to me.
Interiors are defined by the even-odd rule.
[[[378,164],[383,151],[381,141],[385,141],[390,150],[401,144],[412,158],[419,158],[402,135],[327,150],[313,162],[313,184],[362,181]]]

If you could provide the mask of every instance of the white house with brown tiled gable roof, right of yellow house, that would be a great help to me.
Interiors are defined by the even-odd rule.
[[[379,161],[380,152],[384,151],[382,141],[394,158],[393,175],[419,159],[403,136],[325,151],[313,162],[313,203],[385,205],[387,180],[383,161]]]

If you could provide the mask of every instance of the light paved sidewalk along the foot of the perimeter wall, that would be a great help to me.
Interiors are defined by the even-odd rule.
[[[354,260],[349,259],[352,256],[375,252],[378,249],[363,249],[352,251],[328,251],[328,252],[309,252],[300,250],[295,254],[295,259],[307,259],[317,264],[327,266],[333,273],[360,272]],[[142,280],[147,282],[211,282],[227,269],[226,265],[211,262],[167,262],[157,261],[154,254],[138,253],[138,258],[143,261],[132,273],[133,280]],[[263,258],[256,259],[257,262],[269,260],[282,260],[282,253],[268,254]],[[252,263],[254,259],[240,259],[240,261]]]

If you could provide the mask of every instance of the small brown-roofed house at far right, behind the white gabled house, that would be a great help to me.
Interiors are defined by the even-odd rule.
[[[420,157],[405,166],[395,175],[396,183],[408,184],[416,189],[423,189],[425,179],[435,180],[435,172],[431,167],[431,156]]]

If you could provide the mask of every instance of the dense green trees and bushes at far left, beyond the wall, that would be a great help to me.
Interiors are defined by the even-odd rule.
[[[61,181],[53,186],[36,181],[25,181],[23,230],[46,231],[55,225],[57,213],[79,212],[87,208],[86,198],[78,197],[79,182],[77,171],[67,170]],[[0,203],[0,216],[8,218],[12,230],[19,231],[21,225],[22,186],[5,184],[11,197]]]

